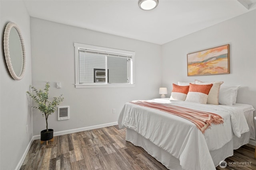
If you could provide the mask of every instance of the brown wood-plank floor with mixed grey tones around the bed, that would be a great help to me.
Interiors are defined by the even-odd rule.
[[[54,142],[40,145],[35,140],[20,170],[166,170],[144,149],[125,141],[126,129],[118,126],[54,137]],[[256,170],[254,146],[245,145],[234,151],[226,162],[251,162],[247,167],[217,170]]]

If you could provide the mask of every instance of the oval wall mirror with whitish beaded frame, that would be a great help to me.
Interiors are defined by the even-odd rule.
[[[25,71],[25,48],[18,25],[9,22],[4,30],[4,56],[14,80],[20,80]]]

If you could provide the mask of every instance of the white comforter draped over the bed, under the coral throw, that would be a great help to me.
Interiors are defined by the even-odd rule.
[[[215,170],[209,150],[223,147],[232,140],[233,133],[240,137],[249,131],[244,112],[239,108],[169,100],[148,101],[208,111],[224,119],[223,124],[212,125],[202,134],[194,123],[182,117],[131,103],[124,105],[118,119],[119,127],[132,129],[166,150],[180,160],[184,170]]]

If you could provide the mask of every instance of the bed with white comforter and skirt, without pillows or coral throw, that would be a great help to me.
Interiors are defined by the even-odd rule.
[[[142,147],[168,169],[215,170],[234,149],[255,139],[254,108],[248,104],[198,104],[169,98],[147,102],[207,111],[224,119],[223,124],[212,124],[202,133],[182,117],[126,103],[118,118],[119,127],[126,127],[126,141]]]

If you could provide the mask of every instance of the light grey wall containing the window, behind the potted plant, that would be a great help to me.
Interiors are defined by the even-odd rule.
[[[135,51],[135,87],[75,88],[74,43]],[[54,113],[48,127],[54,132],[116,122],[125,102],[159,97],[161,46],[31,18],[32,84],[43,88],[50,82],[50,94],[64,94],[61,106],[70,106],[70,119],[57,121]],[[61,82],[62,88],[56,88]],[[112,114],[112,109],[116,114]],[[45,129],[45,121],[33,110],[34,135]]]

